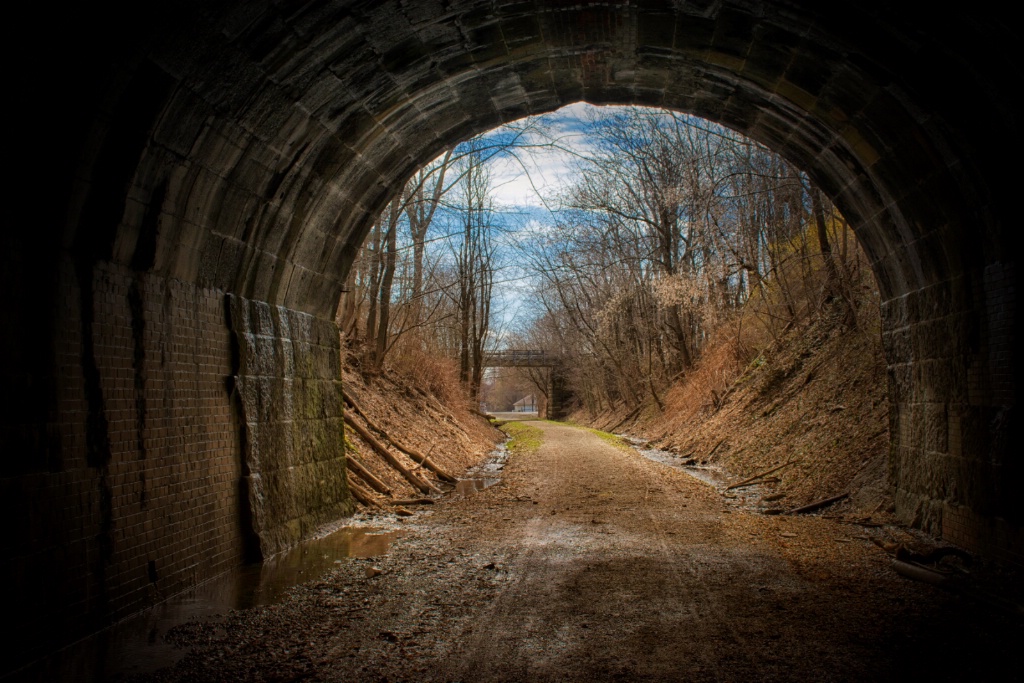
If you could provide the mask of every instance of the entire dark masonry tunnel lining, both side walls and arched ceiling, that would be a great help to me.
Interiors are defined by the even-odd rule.
[[[10,10],[23,660],[351,512],[333,316],[374,217],[444,148],[578,101],[719,122],[827,193],[881,290],[897,514],[1024,564],[1010,9],[138,4]]]

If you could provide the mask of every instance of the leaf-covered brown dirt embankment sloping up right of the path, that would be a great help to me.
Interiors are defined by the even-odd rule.
[[[888,482],[889,401],[879,317],[862,310],[856,329],[840,315],[795,326],[760,352],[722,368],[727,341],[637,416],[626,411],[574,420],[649,439],[654,447],[722,468],[739,481],[785,465],[761,484],[791,508],[849,494],[830,511],[884,519]],[[714,369],[708,366],[715,366]],[[773,480],[774,479],[774,480]]]

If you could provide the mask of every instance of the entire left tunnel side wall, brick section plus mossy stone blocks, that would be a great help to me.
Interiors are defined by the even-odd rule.
[[[2,426],[0,673],[351,510],[332,323],[118,265],[58,279],[45,411]]]

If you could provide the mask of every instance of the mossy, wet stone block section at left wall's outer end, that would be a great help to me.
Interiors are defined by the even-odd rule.
[[[262,555],[351,514],[333,323],[229,296],[245,489]]]

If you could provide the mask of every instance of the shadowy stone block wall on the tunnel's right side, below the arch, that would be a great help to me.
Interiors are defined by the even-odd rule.
[[[897,514],[1024,566],[1013,280],[1011,265],[993,264],[891,299],[883,341]]]

